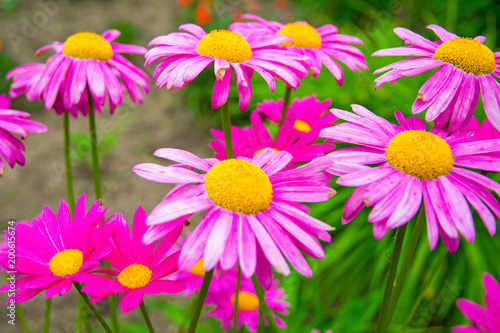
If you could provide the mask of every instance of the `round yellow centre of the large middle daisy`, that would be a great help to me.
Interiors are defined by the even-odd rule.
[[[261,168],[243,160],[224,160],[205,176],[205,188],[219,207],[241,214],[256,214],[271,203],[273,187]]]

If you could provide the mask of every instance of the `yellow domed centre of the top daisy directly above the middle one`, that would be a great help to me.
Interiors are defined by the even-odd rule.
[[[229,62],[252,59],[252,49],[248,42],[236,32],[229,30],[212,30],[200,40],[196,51],[201,55]]]

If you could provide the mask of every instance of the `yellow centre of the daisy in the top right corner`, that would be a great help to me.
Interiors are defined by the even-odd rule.
[[[495,70],[493,52],[472,38],[454,38],[444,42],[436,49],[433,58],[449,62],[475,75],[488,74]]]

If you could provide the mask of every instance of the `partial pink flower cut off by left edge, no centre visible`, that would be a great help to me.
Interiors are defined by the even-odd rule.
[[[28,133],[47,132],[47,127],[33,120],[28,120],[31,115],[27,112],[11,110],[10,99],[4,94],[0,94],[0,156],[3,157],[11,168],[17,163],[24,165],[25,150],[21,139],[26,139]],[[0,158],[0,176],[4,170],[3,159]]]

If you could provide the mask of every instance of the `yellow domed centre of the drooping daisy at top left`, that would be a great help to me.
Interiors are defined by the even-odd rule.
[[[80,59],[106,61],[113,56],[111,44],[94,32],[77,32],[64,42],[63,52],[67,56]]]

